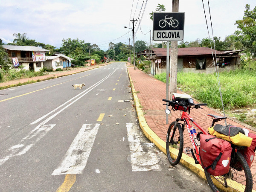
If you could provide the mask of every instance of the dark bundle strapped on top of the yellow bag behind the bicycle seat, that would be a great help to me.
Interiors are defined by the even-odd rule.
[[[224,126],[224,125],[216,124],[216,125],[214,125],[213,129],[215,131],[219,132],[220,134],[224,134],[224,135],[230,136],[230,137],[233,137],[233,136],[239,134],[239,132],[245,135],[245,132],[242,128],[233,127],[232,125]]]

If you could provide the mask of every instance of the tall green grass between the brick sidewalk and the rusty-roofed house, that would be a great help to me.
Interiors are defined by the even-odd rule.
[[[219,73],[225,109],[244,108],[256,103],[254,70],[233,70]],[[155,78],[166,82],[166,73]],[[209,107],[222,109],[216,74],[178,73],[177,87]]]

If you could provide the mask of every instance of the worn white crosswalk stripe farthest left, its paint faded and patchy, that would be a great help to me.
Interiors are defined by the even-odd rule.
[[[39,140],[41,140],[48,131],[50,131],[55,125],[38,125],[34,131],[31,131],[27,137],[24,137],[19,144],[14,145],[7,149],[9,153],[6,157],[0,159],[0,165],[5,163],[11,157],[25,154],[31,149]]]

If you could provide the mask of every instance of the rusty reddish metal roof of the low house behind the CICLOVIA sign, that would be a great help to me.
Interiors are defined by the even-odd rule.
[[[152,49],[156,56],[166,56],[166,48],[154,48]],[[186,48],[178,48],[178,56],[186,56],[186,55],[212,55],[212,52],[215,54],[224,54],[221,51],[217,51],[215,49],[211,49],[208,47],[186,47]],[[171,49],[170,49],[171,54]]]

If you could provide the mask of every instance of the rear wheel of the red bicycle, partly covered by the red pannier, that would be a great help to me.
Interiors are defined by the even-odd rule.
[[[218,189],[228,192],[237,191],[237,189],[244,192],[252,191],[253,178],[246,160],[239,151],[235,153],[234,160],[236,163],[230,163],[230,171],[225,175],[213,176],[206,170],[204,171],[212,191],[218,192]],[[239,167],[239,169],[234,169],[233,167]]]

